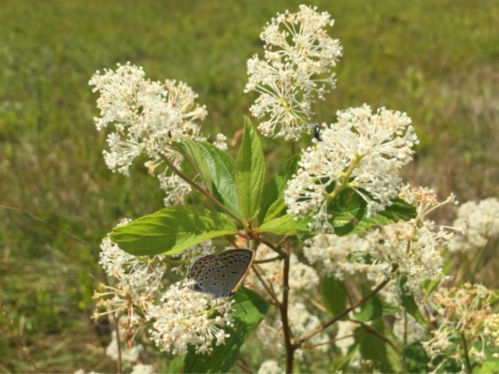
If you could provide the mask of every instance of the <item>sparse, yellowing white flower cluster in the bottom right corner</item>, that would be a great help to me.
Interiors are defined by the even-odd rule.
[[[493,292],[481,284],[465,283],[459,288],[438,288],[432,298],[438,327],[431,331],[429,341],[422,342],[429,357],[444,353],[447,357],[459,359],[460,352],[453,351],[452,339],[466,336],[471,346],[469,355],[477,360],[484,359],[482,328],[485,321],[491,321],[492,296]],[[482,350],[475,348],[474,341],[482,342]]]

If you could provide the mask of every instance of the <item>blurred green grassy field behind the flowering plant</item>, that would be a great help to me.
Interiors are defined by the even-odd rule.
[[[140,162],[130,178],[106,168],[93,72],[129,60],[185,81],[207,106],[204,132],[231,139],[255,98],[243,89],[262,26],[301,2],[1,1],[0,204],[86,243],[0,208],[0,371],[115,370],[110,327],[90,320],[97,247],[163,194]],[[344,47],[317,122],[365,102],[406,111],[421,139],[406,179],[461,202],[499,197],[499,1],[310,4],[333,15]],[[275,170],[279,144],[264,143]]]

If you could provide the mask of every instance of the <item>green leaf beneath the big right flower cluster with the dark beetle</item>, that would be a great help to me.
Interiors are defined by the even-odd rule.
[[[415,217],[415,208],[411,204],[398,198],[392,202],[384,211],[367,218],[367,203],[361,195],[354,190],[344,190],[328,206],[328,213],[333,216],[330,222],[335,234],[360,233],[370,230],[374,225],[387,225]]]

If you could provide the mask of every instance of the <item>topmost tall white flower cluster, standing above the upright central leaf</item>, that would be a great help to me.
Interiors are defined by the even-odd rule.
[[[267,23],[260,39],[265,42],[264,58],[247,63],[245,92],[259,96],[250,111],[257,118],[269,116],[258,129],[264,136],[298,140],[310,132],[311,105],[335,88],[331,71],[342,55],[337,39],[327,33],[333,19],[327,12],[301,5],[296,13],[286,11]]]

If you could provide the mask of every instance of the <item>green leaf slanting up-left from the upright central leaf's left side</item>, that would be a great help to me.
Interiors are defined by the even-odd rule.
[[[234,160],[214,145],[193,140],[173,143],[182,156],[196,168],[209,192],[223,205],[241,217],[234,178]]]

